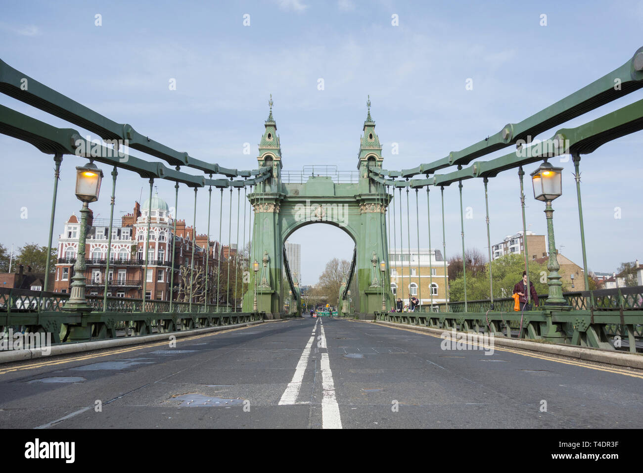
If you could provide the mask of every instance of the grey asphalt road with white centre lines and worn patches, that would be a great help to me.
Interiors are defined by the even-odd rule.
[[[443,343],[307,317],[4,364],[0,428],[643,427],[641,371]]]

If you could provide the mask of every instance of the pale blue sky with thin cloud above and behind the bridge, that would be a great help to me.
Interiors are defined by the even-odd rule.
[[[239,169],[256,166],[270,93],[285,170],[307,164],[355,169],[367,95],[385,168],[403,169],[443,158],[519,122],[614,70],[643,46],[642,1],[583,6],[356,0],[1,4],[0,59],[163,144]],[[95,25],[96,14],[102,26]],[[250,15],[250,26],[243,25],[244,14]],[[399,26],[392,26],[394,14]],[[547,26],[540,25],[541,14],[547,15]],[[320,78],[323,90],[317,87]],[[469,78],[473,90],[465,88]],[[168,88],[170,79],[176,79],[176,90]],[[560,127],[583,124],[642,97],[643,91],[637,91]],[[0,104],[53,125],[75,127],[4,95]],[[554,131],[536,138],[549,138]],[[246,142],[250,155],[242,153]],[[399,144],[399,154],[391,154],[392,143]],[[643,133],[638,132],[581,161],[588,266],[594,271],[612,271],[622,261],[643,258],[641,145]],[[46,245],[53,159],[4,135],[0,150],[5,164],[0,243]],[[71,156],[62,163],[55,236],[69,214],[80,209],[73,195],[73,167],[79,163]],[[561,253],[582,265],[573,165],[571,160],[561,165],[563,196],[554,202],[556,243]],[[527,184],[527,225],[544,234],[544,206],[531,197]],[[122,171],[115,215],[131,211],[146,185]],[[109,216],[110,190],[106,180],[100,201],[91,206],[99,218]],[[173,205],[172,183],[161,181],[158,190]],[[500,174],[489,190],[493,244],[521,230],[516,171]],[[193,195],[187,189],[179,194],[177,214],[188,222]],[[207,225],[205,195],[199,194],[197,204],[199,233]],[[431,237],[437,247],[439,192],[431,196]],[[451,255],[461,245],[457,187],[446,189],[445,197],[446,253]],[[466,246],[485,251],[482,181],[466,181],[463,198],[473,210],[473,218],[465,221]],[[426,229],[425,205],[422,201],[421,230]],[[22,207],[28,209],[26,219],[21,218]],[[614,218],[615,207],[621,209],[620,219]],[[212,221],[215,235],[216,219]],[[415,223],[411,225],[413,236]],[[426,231],[421,233],[426,238]],[[338,228],[311,225],[290,241],[302,243],[305,284],[316,282],[331,257],[352,255],[350,237]]]

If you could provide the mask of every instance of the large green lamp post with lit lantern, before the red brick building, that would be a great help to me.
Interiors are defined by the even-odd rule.
[[[69,299],[62,307],[68,311],[89,311],[91,306],[85,299],[85,240],[87,238],[87,216],[89,203],[98,200],[100,181],[103,171],[98,169],[93,162],[76,167],[76,197],[82,201],[80,209],[80,234],[78,236],[78,256],[74,264],[74,275],[71,278],[71,292]]]

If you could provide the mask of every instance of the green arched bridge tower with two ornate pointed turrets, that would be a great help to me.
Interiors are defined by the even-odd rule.
[[[382,309],[382,299],[388,306],[390,292],[387,281],[388,243],[386,242],[386,207],[388,195],[368,178],[368,167],[382,166],[382,146],[375,133],[375,122],[368,113],[363,125],[358,153],[357,182],[336,183],[332,176],[312,174],[300,183],[283,183],[281,180],[282,153],[276,122],[270,112],[264,123],[264,134],[258,145],[258,165],[272,165],[271,178],[260,183],[248,196],[255,211],[251,263],[257,261],[259,270],[251,271],[248,292],[244,295],[243,310],[253,308],[255,277],[257,278],[257,308],[268,318],[279,317],[288,297],[289,287],[282,287],[284,268],[284,241],[298,228],[311,223],[325,223],[341,228],[350,235],[356,246],[354,272],[358,293],[352,294],[356,313],[371,318],[374,311]],[[320,228],[323,232],[323,228]],[[379,263],[386,263],[382,274]],[[288,285],[288,284],[286,284]],[[298,293],[298,291],[296,291]],[[297,301],[297,307],[300,307]],[[343,301],[338,302],[341,311]]]

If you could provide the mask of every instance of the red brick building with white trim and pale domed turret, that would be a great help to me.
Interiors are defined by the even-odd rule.
[[[147,299],[169,301],[170,293],[177,300],[179,288],[185,289],[185,281],[181,278],[181,266],[190,268],[192,261],[192,245],[194,246],[194,274],[203,272],[206,264],[206,247],[208,237],[197,235],[194,241],[194,228],[188,227],[185,220],[176,221],[174,234],[174,219],[169,214],[167,203],[155,194],[148,216],[149,199],[141,206],[134,204],[131,214],[122,216],[120,225],[114,222],[110,250],[109,272],[107,269],[107,238],[109,237],[109,220],[94,219],[87,221],[87,239],[85,246],[86,257],[86,294],[103,295],[105,277],[107,277],[107,296],[141,298],[143,277],[145,277],[145,292]],[[150,223],[149,248],[145,248],[147,239],[147,224]],[[73,265],[78,255],[78,236],[80,223],[75,214],[65,223],[64,232],[59,237],[59,259],[55,268],[55,292],[68,293],[71,288]],[[176,241],[174,254],[174,287],[170,290],[170,272],[172,271],[172,241]],[[215,267],[219,246],[210,241],[208,251],[208,288],[215,285]],[[145,273],[145,254],[147,253],[147,274]],[[185,270],[184,270],[185,272]],[[195,284],[195,287],[197,284]],[[189,288],[187,288],[189,292]],[[208,289],[208,299],[212,292]],[[203,297],[194,294],[194,301]],[[181,291],[179,300],[185,300],[185,291]],[[202,299],[201,299],[202,300]]]

